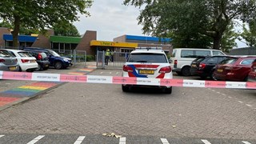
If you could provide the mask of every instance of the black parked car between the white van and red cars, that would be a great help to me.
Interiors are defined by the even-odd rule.
[[[215,66],[222,62],[228,56],[226,55],[219,55],[219,56],[212,56],[212,57],[198,57],[191,62],[190,66],[190,74],[196,74],[200,78],[212,78],[215,70]]]

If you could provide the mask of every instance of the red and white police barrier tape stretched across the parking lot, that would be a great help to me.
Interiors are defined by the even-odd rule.
[[[132,84],[150,86],[180,86],[180,87],[210,87],[256,89],[256,82],[224,82],[224,81],[199,81],[187,79],[159,79],[159,78],[126,78],[116,76],[98,75],[70,75],[0,71],[0,79],[47,81],[47,82],[86,82]]]

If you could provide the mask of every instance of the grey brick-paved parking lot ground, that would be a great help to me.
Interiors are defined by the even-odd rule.
[[[98,69],[89,74],[121,76],[121,73],[122,70]],[[174,78],[198,80],[176,74]],[[1,83],[10,88],[28,82],[1,80]],[[2,87],[1,90],[6,89]],[[102,138],[103,133],[114,133],[125,136],[128,143],[134,137],[136,141],[130,143],[144,143],[143,138],[146,142],[153,138],[151,142],[155,143],[161,143],[160,138],[178,143],[179,140],[203,143],[201,139],[213,139],[212,143],[254,143],[255,130],[254,90],[174,87],[172,94],[148,89],[123,93],[120,85],[66,82],[0,112],[0,131],[6,135],[93,134]],[[109,140],[111,143],[112,138]]]

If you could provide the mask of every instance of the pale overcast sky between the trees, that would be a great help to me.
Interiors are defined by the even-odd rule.
[[[86,30],[97,31],[98,41],[113,41],[113,38],[130,34],[142,34],[142,26],[138,25],[139,10],[134,6],[122,5],[123,0],[94,0],[93,6],[87,9],[90,17],[79,15],[80,21],[74,22],[80,34]],[[246,47],[238,42],[238,47]]]

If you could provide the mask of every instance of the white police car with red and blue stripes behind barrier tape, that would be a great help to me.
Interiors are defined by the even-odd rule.
[[[168,58],[159,48],[136,48],[133,50],[122,67],[122,77],[136,78],[173,78]],[[171,94],[171,86],[142,86],[122,84],[122,91],[130,91],[131,87],[156,87],[166,94]]]

